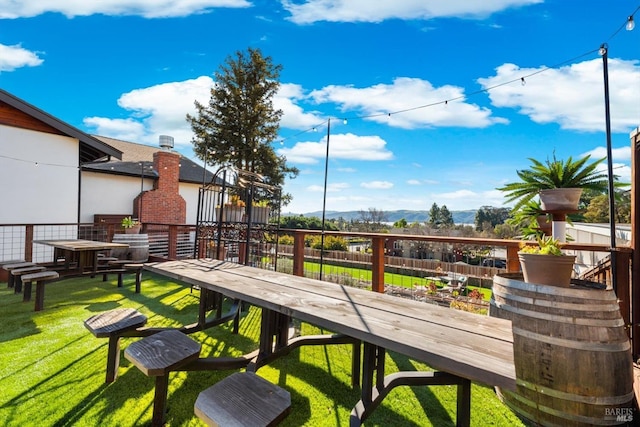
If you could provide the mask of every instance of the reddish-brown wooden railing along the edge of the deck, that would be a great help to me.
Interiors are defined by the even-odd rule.
[[[34,251],[33,241],[37,239],[81,238],[111,241],[114,233],[118,232],[122,232],[122,230],[114,224],[0,224],[0,262],[18,258],[28,261],[39,261],[40,258],[44,258],[46,254],[38,252],[43,250],[42,248]],[[195,226],[145,224],[143,233],[149,235],[149,253],[150,259],[152,260],[174,260],[193,257]],[[305,238],[320,235],[322,232],[318,230],[280,230],[280,233],[289,234],[294,237],[293,247],[289,249],[283,248],[281,255],[293,259],[293,274],[303,276],[305,274],[305,259],[313,260],[317,263],[320,258],[320,251],[314,252],[309,248],[305,248]],[[435,260],[415,260],[389,256],[390,248],[386,245],[388,242],[394,240],[447,244],[453,247],[503,248],[506,250],[506,271],[517,272],[520,270],[517,256],[517,252],[522,244],[520,240],[334,231],[325,232],[325,236],[359,238],[369,242],[369,247],[371,248],[369,254],[360,253],[357,256],[355,254],[352,256],[342,253],[339,259],[337,259],[335,254],[332,254],[330,251],[325,251],[323,256],[325,257],[324,261],[327,263],[357,262],[359,265],[366,266],[366,269],[371,271],[371,286],[376,292],[384,291],[385,271],[393,268],[420,268],[430,270],[433,268],[433,263],[435,262],[440,266],[444,266],[447,271],[456,271],[459,274],[466,274],[471,277],[484,276],[488,277],[488,280],[490,280],[494,274],[505,271],[505,269],[500,270],[492,267],[465,266]],[[610,248],[607,245],[568,243],[565,248],[572,251],[610,253]],[[633,337],[640,337],[640,329],[637,323],[632,323],[631,319],[638,316],[640,307],[635,308],[636,311],[634,311],[632,295],[640,295],[640,287],[635,285],[636,281],[632,278],[630,268],[632,256],[633,251],[630,247],[616,248],[615,283],[612,283],[611,265],[608,260],[588,266],[590,269],[586,271],[586,276],[583,276],[583,278],[613,286],[616,290],[622,316],[625,324],[628,325],[629,335],[632,337],[635,359],[640,355],[640,339],[633,339]],[[241,261],[243,260],[241,259]],[[3,273],[4,272],[0,271],[0,275]]]

